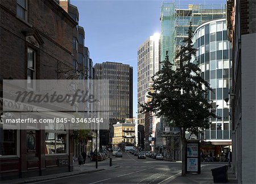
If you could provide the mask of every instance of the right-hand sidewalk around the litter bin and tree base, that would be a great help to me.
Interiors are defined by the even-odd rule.
[[[201,174],[186,174],[182,177],[181,174],[170,178],[170,180],[163,183],[177,183],[177,184],[187,184],[187,183],[199,183],[199,184],[211,184],[213,183],[212,171],[210,169],[217,168],[219,166],[226,165],[225,163],[205,163],[201,166]],[[232,173],[232,168],[228,169],[228,183],[237,183],[236,175]]]

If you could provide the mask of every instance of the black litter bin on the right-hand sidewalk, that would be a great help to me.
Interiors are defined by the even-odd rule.
[[[228,165],[224,165],[218,168],[211,169],[214,183],[228,182],[228,167]]]

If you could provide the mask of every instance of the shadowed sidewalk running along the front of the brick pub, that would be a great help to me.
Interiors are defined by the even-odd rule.
[[[104,165],[100,163],[104,163]],[[37,177],[29,177],[29,178],[18,178],[18,179],[11,179],[11,180],[3,180],[1,181],[1,184],[3,183],[31,183],[31,182],[39,182],[39,181],[45,181],[47,179],[56,179],[56,178],[63,178],[68,177],[71,175],[79,175],[79,174],[86,174],[86,173],[94,173],[99,172],[101,170],[107,170],[107,169],[114,169],[119,166],[112,166],[110,167],[107,163],[109,162],[109,159],[106,159],[105,161],[98,162],[98,169],[95,167],[95,162],[86,160],[85,165],[78,165],[78,162],[75,161],[73,163],[74,170],[73,172],[65,172],[65,173],[59,173],[59,174],[49,174],[49,175],[42,175]]]

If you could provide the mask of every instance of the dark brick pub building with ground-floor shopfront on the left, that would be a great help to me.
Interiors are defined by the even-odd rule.
[[[1,60],[0,91],[3,80],[56,80],[76,78],[73,68],[73,35],[77,21],[59,1],[19,0],[0,2],[1,6]],[[78,27],[78,33],[84,31]],[[79,34],[77,36],[79,37]],[[77,51],[84,52],[79,45]],[[79,56],[78,56],[79,57]],[[27,83],[32,86],[33,83]],[[2,104],[2,103],[1,103]],[[1,107],[2,114],[2,107]],[[72,172],[72,131],[61,132],[63,149],[49,148],[49,137],[55,141],[58,131],[44,129],[6,130],[0,127],[1,179],[18,178],[49,173]],[[28,137],[35,144],[28,145]],[[55,138],[54,138],[55,137]]]

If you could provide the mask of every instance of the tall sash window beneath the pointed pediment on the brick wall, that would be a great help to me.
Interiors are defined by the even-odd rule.
[[[27,48],[27,87],[34,87],[35,80],[36,53],[31,48]]]

